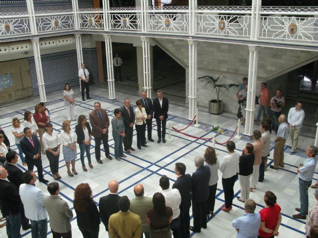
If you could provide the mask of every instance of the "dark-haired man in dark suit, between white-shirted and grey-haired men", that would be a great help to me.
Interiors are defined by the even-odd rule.
[[[185,174],[186,167],[183,163],[176,163],[174,173],[178,176],[172,188],[181,194],[180,204],[180,235],[181,238],[190,237],[190,207],[191,207],[191,175]]]

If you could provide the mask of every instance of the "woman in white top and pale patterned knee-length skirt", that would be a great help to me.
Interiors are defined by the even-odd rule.
[[[75,175],[78,175],[75,169],[75,160],[77,157],[76,143],[77,135],[74,130],[71,129],[70,121],[65,120],[62,124],[62,132],[60,134],[61,144],[63,145],[63,158],[66,163],[66,168],[68,169],[68,175],[74,177],[72,172]],[[72,172],[70,170],[70,164],[72,164]]]

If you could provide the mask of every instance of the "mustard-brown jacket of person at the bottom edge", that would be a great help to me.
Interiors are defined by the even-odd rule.
[[[130,211],[117,212],[110,216],[108,230],[110,237],[140,238],[140,217]]]

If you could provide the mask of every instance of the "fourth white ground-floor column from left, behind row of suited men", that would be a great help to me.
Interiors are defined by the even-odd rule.
[[[150,38],[148,37],[141,37],[143,42],[143,68],[144,68],[144,90],[147,92],[149,98],[151,96],[151,62],[150,60]]]

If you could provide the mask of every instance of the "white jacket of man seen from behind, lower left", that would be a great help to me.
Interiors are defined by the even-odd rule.
[[[44,193],[40,188],[32,184],[23,183],[20,185],[19,193],[26,218],[33,221],[41,221],[48,218],[43,206]]]

